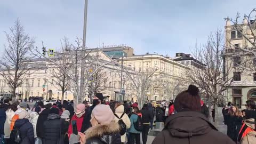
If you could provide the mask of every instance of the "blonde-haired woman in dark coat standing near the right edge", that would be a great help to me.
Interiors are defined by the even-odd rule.
[[[237,143],[238,133],[242,126],[243,113],[238,107],[232,106],[227,117],[227,135]]]

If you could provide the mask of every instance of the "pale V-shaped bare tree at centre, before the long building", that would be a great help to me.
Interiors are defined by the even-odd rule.
[[[157,68],[147,68],[145,71],[136,71],[135,69],[124,68],[124,73],[127,76],[127,81],[135,88],[139,105],[142,106],[145,102],[147,90],[156,81],[153,76],[156,76]]]

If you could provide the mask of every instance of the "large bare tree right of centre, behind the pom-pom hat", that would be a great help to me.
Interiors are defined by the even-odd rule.
[[[223,57],[225,50],[223,33],[221,29],[218,29],[215,33],[210,34],[203,46],[196,46],[193,52],[193,57],[201,61],[204,67],[196,68],[191,66],[186,72],[189,81],[205,92],[209,101],[209,111],[212,105],[215,108],[215,116],[218,116],[218,100],[224,97],[223,92],[233,82],[233,76],[231,77],[230,74],[235,71],[242,73],[242,69],[233,67],[234,64],[230,61],[228,62],[228,57]]]

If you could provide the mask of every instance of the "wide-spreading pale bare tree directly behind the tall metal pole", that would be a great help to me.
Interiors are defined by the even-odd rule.
[[[88,87],[91,84],[90,78],[100,70],[103,66],[108,65],[111,62],[114,62],[115,60],[102,60],[101,54],[102,50],[90,50],[86,49],[85,55],[81,54],[82,51],[82,40],[79,38],[76,38],[74,44],[69,44],[67,39],[65,40],[65,46],[61,52],[58,52],[60,54],[61,59],[56,61],[54,58],[47,57],[47,55],[42,55],[41,51],[36,47],[36,49],[31,50],[33,54],[38,58],[44,58],[47,60],[51,65],[55,65],[55,67],[58,68],[57,71],[61,71],[62,74],[65,74],[64,76],[67,76],[67,85],[69,85],[69,90],[74,95],[74,107],[76,107],[77,103],[82,103],[87,91],[89,90]],[[63,46],[62,46],[63,47]],[[68,48],[69,47],[69,48]],[[65,57],[65,58],[63,58]],[[80,81],[81,81],[81,61],[85,59],[85,74],[84,74],[84,88],[83,88],[83,95],[79,95],[80,90]],[[63,62],[65,60],[65,62]],[[62,75],[63,76],[63,75]],[[58,75],[56,75],[58,77]],[[63,80],[63,78],[62,78]],[[63,86],[63,83],[62,83]]]

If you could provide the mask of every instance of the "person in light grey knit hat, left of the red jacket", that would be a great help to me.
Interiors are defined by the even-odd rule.
[[[64,144],[68,144],[68,127],[69,127],[69,111],[68,110],[64,110],[63,113],[61,114],[60,118],[61,118],[61,123],[63,126],[63,135],[62,137],[64,138]]]

